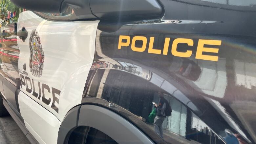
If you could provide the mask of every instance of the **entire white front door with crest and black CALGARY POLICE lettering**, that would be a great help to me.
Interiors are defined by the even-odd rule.
[[[63,13],[24,11],[18,19],[19,107],[39,143],[57,142],[66,113],[81,104],[93,63],[99,21],[62,21],[73,13],[70,8]]]

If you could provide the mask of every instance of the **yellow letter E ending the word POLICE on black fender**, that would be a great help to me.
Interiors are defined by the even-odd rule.
[[[205,39],[200,39],[198,41],[197,52],[196,52],[196,59],[218,61],[218,58],[219,58],[218,56],[204,55],[203,52],[218,53],[219,49],[218,48],[205,48],[204,45],[220,46],[221,45],[221,40],[205,40]]]

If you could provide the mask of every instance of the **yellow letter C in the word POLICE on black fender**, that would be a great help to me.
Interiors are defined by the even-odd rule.
[[[179,43],[186,43],[188,46],[193,46],[193,44],[194,44],[192,39],[176,38],[172,43],[172,55],[180,56],[180,57],[190,57],[192,54],[192,51],[186,51],[186,52],[177,51],[177,45]]]

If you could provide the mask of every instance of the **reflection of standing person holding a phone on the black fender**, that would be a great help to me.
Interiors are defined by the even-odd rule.
[[[167,105],[167,100],[164,99],[163,97],[163,92],[159,92],[159,104],[155,104],[155,107],[157,108],[157,116],[154,119],[154,129],[155,132],[161,137],[163,138],[163,128],[162,128],[162,124],[163,121],[165,119],[165,109],[166,109],[166,105]]]

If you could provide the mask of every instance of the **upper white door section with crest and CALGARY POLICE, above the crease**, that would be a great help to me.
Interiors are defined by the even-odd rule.
[[[98,22],[48,21],[32,11],[19,15],[17,30],[25,27],[28,31],[25,42],[20,38],[17,40],[20,49],[19,72],[23,82],[21,91],[53,113],[60,121],[71,108],[81,104],[86,78],[93,63]],[[40,42],[34,37],[39,37]],[[43,65],[32,71],[30,41],[33,46],[32,63],[36,66],[34,68]],[[43,64],[40,63],[42,61]],[[24,64],[26,70],[23,68]],[[24,111],[22,108],[20,107],[21,111]],[[30,117],[27,115],[24,119],[32,126],[33,122],[28,121]]]

